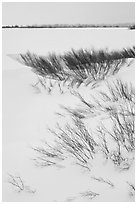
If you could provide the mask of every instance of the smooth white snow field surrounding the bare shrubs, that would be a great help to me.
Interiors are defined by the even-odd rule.
[[[33,33],[32,33],[33,32]],[[92,44],[93,43],[93,44]],[[65,123],[60,105],[77,107],[79,100],[69,92],[50,95],[36,90],[36,75],[7,54],[63,53],[71,48],[121,49],[134,45],[134,31],[116,30],[4,30],[3,31],[3,201],[134,201],[134,163],[121,171],[111,161],[96,158],[91,171],[75,165],[73,159],[60,166],[36,167],[33,146],[41,140],[52,142],[47,126]],[[134,86],[134,62],[108,80],[121,79]],[[101,89],[104,83],[100,84]],[[88,97],[88,88],[81,88]],[[86,121],[96,126],[97,121]],[[14,180],[15,179],[15,180]],[[17,185],[10,182],[16,181]],[[23,183],[23,184],[22,184]],[[15,184],[15,182],[14,182]]]

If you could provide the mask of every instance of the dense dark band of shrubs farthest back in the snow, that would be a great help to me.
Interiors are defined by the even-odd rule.
[[[99,81],[116,74],[129,58],[135,58],[135,47],[112,52],[72,49],[64,55],[50,54],[45,57],[27,52],[16,57],[32,68],[38,75],[38,84],[49,93],[55,86],[61,93],[63,87],[78,88],[81,84],[92,84],[94,87]]]

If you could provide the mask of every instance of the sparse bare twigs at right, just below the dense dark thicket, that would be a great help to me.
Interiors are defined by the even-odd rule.
[[[92,117],[103,113],[110,114],[116,110],[118,110],[119,113],[121,111],[121,115],[135,115],[135,90],[132,84],[127,84],[117,79],[112,83],[106,82],[104,91],[97,90],[96,93],[97,95],[93,96],[91,90],[91,94],[89,93],[91,99],[87,101],[79,92],[73,91],[72,94],[80,99],[83,107],[75,109],[64,107],[64,109],[72,115],[81,114],[83,118],[87,117],[90,113]],[[123,113],[123,111],[125,111],[125,113]]]

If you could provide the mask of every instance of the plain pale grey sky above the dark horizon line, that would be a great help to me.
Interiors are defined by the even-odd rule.
[[[134,23],[133,2],[4,2],[2,23]]]

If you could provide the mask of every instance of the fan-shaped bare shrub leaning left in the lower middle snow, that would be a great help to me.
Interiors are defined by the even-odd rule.
[[[65,129],[57,125],[57,130],[49,129],[56,137],[57,147],[51,147],[47,144],[41,147],[33,148],[39,153],[35,159],[40,166],[57,165],[58,161],[68,157],[76,159],[76,163],[89,169],[89,161],[94,158],[97,143],[88,132],[84,123],[76,117],[73,117],[73,126],[66,124]],[[90,170],[90,169],[89,169]]]

